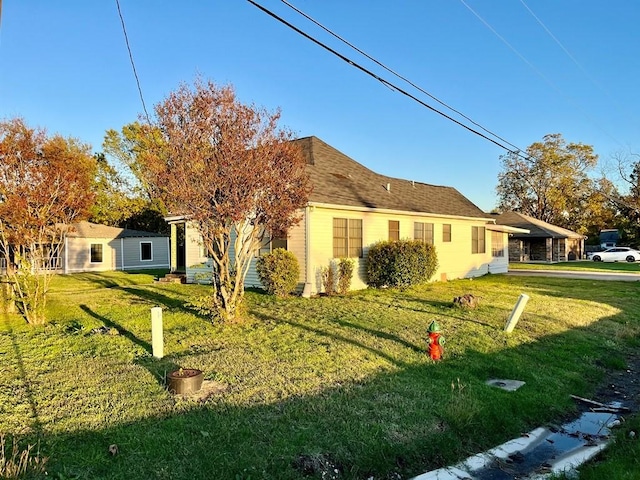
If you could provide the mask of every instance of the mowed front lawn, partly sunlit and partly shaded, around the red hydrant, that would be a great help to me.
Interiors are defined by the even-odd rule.
[[[57,277],[49,325],[0,317],[0,433],[39,445],[48,478],[410,478],[570,415],[571,394],[588,397],[640,346],[635,283],[488,275],[313,299],[247,292],[230,324],[190,309],[209,288]],[[480,306],[453,308],[465,293]],[[438,363],[432,320],[446,337]],[[179,367],[203,370],[211,395],[169,394]],[[490,378],[526,384],[508,393]]]

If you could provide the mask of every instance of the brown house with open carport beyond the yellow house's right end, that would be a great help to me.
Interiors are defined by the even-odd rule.
[[[566,262],[583,258],[586,237],[518,212],[494,215],[496,224],[529,230],[509,237],[510,262]]]

